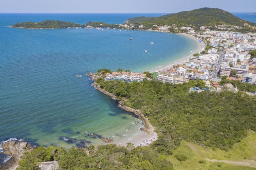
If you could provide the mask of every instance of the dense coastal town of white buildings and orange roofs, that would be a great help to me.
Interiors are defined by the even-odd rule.
[[[121,25],[121,24],[120,24]],[[121,25],[128,28],[134,25]],[[159,32],[169,32],[170,26],[157,26]],[[246,25],[248,26],[248,25]],[[215,25],[221,31],[214,31],[207,26],[201,26],[198,31],[191,27],[176,28],[185,30],[190,36],[196,38],[203,48],[200,53],[193,54],[188,60],[184,60],[172,67],[151,73],[112,72],[106,74],[106,80],[118,79],[127,82],[142,81],[143,79],[155,79],[167,83],[186,83],[189,80],[203,80],[206,89],[221,90],[226,88],[234,92],[234,87],[229,80],[238,80],[241,83],[256,84],[256,58],[251,56],[251,51],[256,49],[256,33],[232,32],[240,27]],[[143,25],[140,25],[143,28]],[[219,84],[226,80],[225,84]],[[233,83],[234,84],[234,83]],[[193,90],[195,90],[194,88]],[[241,89],[240,89],[241,90]],[[246,91],[246,87],[244,90]],[[255,91],[251,91],[255,94]]]

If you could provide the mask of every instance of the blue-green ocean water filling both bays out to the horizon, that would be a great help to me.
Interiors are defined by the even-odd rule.
[[[95,90],[85,75],[100,68],[163,67],[191,53],[197,47],[192,39],[123,29],[6,27],[43,20],[118,24],[142,15],[163,14],[0,14],[0,142],[18,138],[70,148],[105,144],[98,135],[121,143],[142,133],[143,122]]]

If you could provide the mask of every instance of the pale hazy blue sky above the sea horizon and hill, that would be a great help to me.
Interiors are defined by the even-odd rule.
[[[256,0],[0,0],[0,13],[174,13],[202,7],[256,12]]]

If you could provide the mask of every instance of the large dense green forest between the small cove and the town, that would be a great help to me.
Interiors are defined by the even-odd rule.
[[[127,83],[99,78],[97,83],[149,118],[159,135],[151,147],[160,153],[171,153],[182,139],[228,150],[246,130],[256,130],[256,98],[243,92],[188,93],[195,81]]]

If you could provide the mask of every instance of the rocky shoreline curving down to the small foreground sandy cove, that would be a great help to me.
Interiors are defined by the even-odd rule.
[[[118,107],[123,108],[125,111],[129,111],[129,112],[132,112],[133,114],[137,115],[140,119],[142,119],[144,126],[146,127],[146,129],[143,129],[143,131],[141,131],[139,134],[136,134],[132,138],[130,138],[124,142],[121,142],[121,143],[113,142],[114,144],[116,144],[117,146],[126,146],[127,143],[133,143],[134,146],[140,146],[140,144],[142,144],[142,146],[146,146],[146,140],[148,140],[148,143],[151,143],[151,142],[157,140],[158,135],[154,131],[155,128],[149,122],[149,120],[142,114],[142,112],[140,110],[136,110],[134,108],[125,106],[123,100],[120,100],[114,94],[99,87],[99,85],[95,82],[95,80],[97,78],[95,78],[95,76],[93,74],[88,73],[86,75],[91,77],[91,80],[94,82],[93,84],[91,84],[91,86],[93,86],[96,90],[101,91],[102,93],[110,96],[112,99],[118,100],[119,101]],[[152,141],[150,139],[152,139]]]

